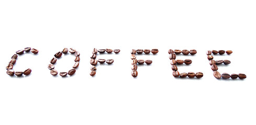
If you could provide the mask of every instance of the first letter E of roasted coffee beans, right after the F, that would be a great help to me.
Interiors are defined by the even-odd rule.
[[[171,60],[171,65],[172,65],[172,75],[173,77],[180,77],[180,78],[185,78],[185,77],[188,77],[188,78],[202,78],[204,76],[203,72],[183,72],[183,73],[180,73],[178,71],[178,68],[176,65],[181,65],[181,64],[186,64],[186,65],[190,65],[192,64],[192,60],[191,59],[185,59],[185,60],[181,60],[181,59],[176,59],[176,54],[183,54],[183,55],[188,55],[188,54],[191,54],[191,55],[195,55],[197,52],[195,49],[191,49],[190,51],[188,51],[187,49],[184,49],[183,51],[179,50],[179,49],[175,49],[174,51],[172,49],[169,49],[168,51],[169,53],[169,59]]]

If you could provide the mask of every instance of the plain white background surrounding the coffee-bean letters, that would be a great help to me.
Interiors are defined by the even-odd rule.
[[[255,1],[1,1],[0,124],[256,124]],[[38,55],[19,56],[10,77],[6,65],[24,47]],[[53,77],[50,59],[64,47],[81,53],[72,77]],[[90,73],[93,48],[121,49],[113,65]],[[150,66],[131,77],[130,51],[158,48]],[[180,72],[204,73],[202,79],[172,76],[168,49],[196,49]],[[217,80],[207,50],[233,51],[219,72],[246,73],[245,80]],[[68,71],[74,56],[62,56],[55,69]]]

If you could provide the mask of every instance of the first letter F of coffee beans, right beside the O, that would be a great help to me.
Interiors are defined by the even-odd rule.
[[[113,50],[112,49],[109,49],[109,48],[106,48],[106,49],[96,49],[96,48],[94,48],[93,49],[93,55],[91,56],[91,60],[90,60],[90,64],[92,65],[91,66],[91,72],[90,72],[90,75],[91,76],[94,76],[95,74],[96,74],[96,70],[97,70],[97,68],[96,68],[96,65],[98,64],[98,62],[100,63],[100,64],[104,64],[105,62],[107,63],[107,64],[113,64],[113,62],[114,62],[114,59],[96,59],[96,57],[97,57],[97,53],[99,53],[99,54],[104,54],[105,52],[107,52],[108,54],[111,54],[112,52],[113,52]],[[120,49],[114,49],[114,53],[115,54],[118,54],[120,52]]]

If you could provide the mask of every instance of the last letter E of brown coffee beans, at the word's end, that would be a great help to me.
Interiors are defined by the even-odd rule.
[[[226,51],[226,54],[230,55],[231,53],[233,53],[232,51]],[[219,55],[223,55],[225,54],[225,51],[224,50],[220,50],[220,51],[216,51],[216,50],[213,50],[213,51],[206,51],[206,55],[207,55],[207,58],[209,60],[209,64],[210,64],[210,68],[214,71],[213,72],[213,75],[215,78],[217,79],[245,79],[246,78],[246,74],[244,73],[239,73],[239,74],[236,74],[236,73],[233,73],[233,74],[228,74],[228,73],[222,73],[220,74],[217,70],[218,70],[218,66],[217,65],[221,65],[221,64],[225,64],[225,65],[228,65],[231,63],[230,60],[214,60],[214,57],[212,56],[212,54],[216,55],[216,54],[219,54]]]

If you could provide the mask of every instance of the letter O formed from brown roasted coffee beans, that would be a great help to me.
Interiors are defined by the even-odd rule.
[[[65,77],[68,74],[70,76],[72,76],[75,73],[75,69],[77,67],[79,67],[79,61],[80,61],[80,53],[77,52],[74,48],[64,48],[62,52],[57,52],[56,54],[54,54],[54,57],[50,60],[50,63],[48,65],[48,69],[50,69],[50,73],[52,74],[52,76],[56,76],[58,74],[58,71],[54,69],[54,64],[56,63],[57,59],[60,58],[62,56],[62,54],[67,54],[68,52],[70,52],[71,54],[75,55],[75,64],[73,66],[73,68],[71,70],[69,70],[68,72],[60,72],[60,76],[61,77]]]

